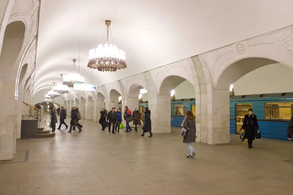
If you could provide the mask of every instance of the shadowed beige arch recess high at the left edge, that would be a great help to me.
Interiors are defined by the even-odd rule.
[[[6,26],[0,54],[0,75],[11,75],[21,52],[24,35],[25,24],[23,22],[16,21]]]

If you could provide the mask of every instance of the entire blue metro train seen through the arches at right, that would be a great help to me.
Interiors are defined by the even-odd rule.
[[[147,102],[139,103],[143,112]],[[240,134],[244,116],[252,108],[264,138],[287,140],[287,126],[293,116],[293,93],[230,96],[230,133]],[[181,127],[184,113],[195,114],[195,98],[171,101],[171,127]]]

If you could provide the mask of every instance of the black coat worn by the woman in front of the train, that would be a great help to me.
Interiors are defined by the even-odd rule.
[[[255,137],[255,131],[258,130],[258,123],[257,123],[256,115],[246,114],[244,116],[242,129],[245,130],[244,138],[253,140]]]

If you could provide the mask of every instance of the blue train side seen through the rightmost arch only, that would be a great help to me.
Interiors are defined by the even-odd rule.
[[[287,140],[287,126],[293,116],[293,94],[286,94],[230,97],[230,133],[241,132],[244,115],[252,108],[262,137]]]

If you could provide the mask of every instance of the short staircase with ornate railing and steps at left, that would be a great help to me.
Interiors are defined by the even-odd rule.
[[[51,132],[51,116],[47,112],[44,112],[32,105],[22,102],[27,109],[25,118],[37,119],[38,120],[38,130],[37,138],[43,137],[55,137],[55,132]]]

